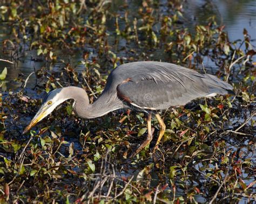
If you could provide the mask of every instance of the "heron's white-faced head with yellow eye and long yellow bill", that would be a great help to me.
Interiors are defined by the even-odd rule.
[[[60,103],[68,100],[69,98],[64,94],[63,90],[56,89],[45,96],[41,108],[37,111],[35,117],[23,131],[23,134],[28,132],[33,126],[35,126],[39,121],[48,116]]]

